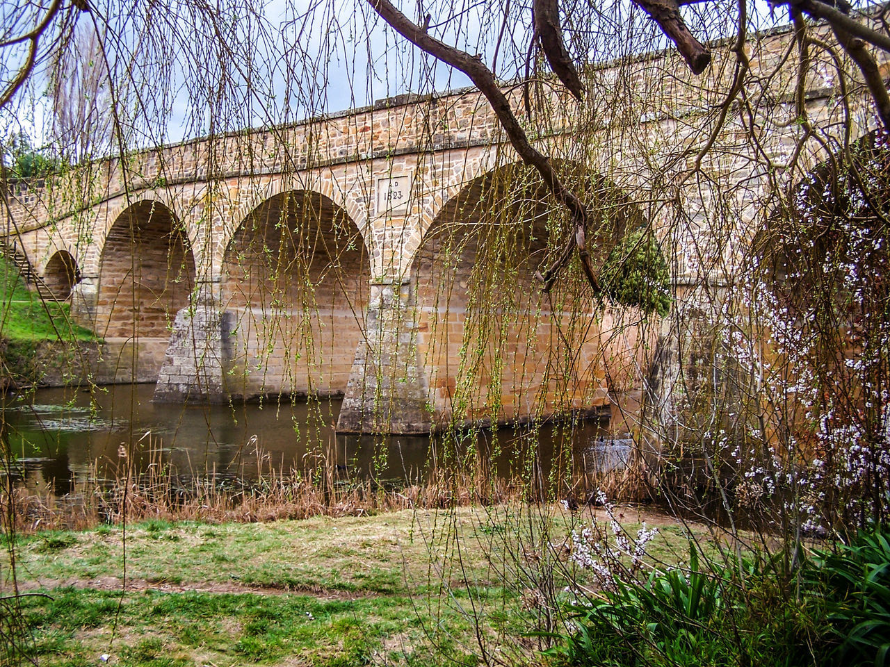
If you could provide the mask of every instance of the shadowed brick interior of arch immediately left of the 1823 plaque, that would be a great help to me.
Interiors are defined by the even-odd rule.
[[[288,190],[258,205],[223,256],[231,396],[343,395],[370,277],[360,230],[328,197]]]

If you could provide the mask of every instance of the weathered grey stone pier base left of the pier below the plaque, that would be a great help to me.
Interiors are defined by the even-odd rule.
[[[222,308],[218,280],[198,283],[191,301],[176,313],[152,400],[226,403],[234,314]]]

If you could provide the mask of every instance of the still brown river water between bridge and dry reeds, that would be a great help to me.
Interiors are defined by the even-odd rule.
[[[485,465],[508,477],[541,462],[568,460],[605,435],[598,421],[482,431],[455,445],[442,437],[374,438],[334,432],[339,400],[265,405],[180,406],[151,403],[154,385],[93,391],[36,390],[7,395],[4,437],[17,462],[17,483],[66,494],[78,482],[115,478],[164,465],[176,475],[256,479],[306,471],[328,462],[340,475],[398,483],[428,475],[456,448],[471,447]]]

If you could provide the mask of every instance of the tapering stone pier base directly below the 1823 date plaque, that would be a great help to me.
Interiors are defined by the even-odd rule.
[[[432,417],[417,354],[417,317],[409,281],[371,285],[365,336],[352,362],[336,430],[429,433]]]

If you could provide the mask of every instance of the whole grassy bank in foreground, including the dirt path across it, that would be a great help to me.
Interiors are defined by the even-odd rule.
[[[483,651],[536,662],[546,640],[528,632],[556,613],[538,589],[565,585],[568,558],[547,564],[532,546],[597,511],[515,503],[36,532],[17,539],[18,586],[49,597],[20,604],[43,665],[476,664]],[[622,510],[628,534],[643,519],[660,524],[652,559],[684,558],[684,526]]]

